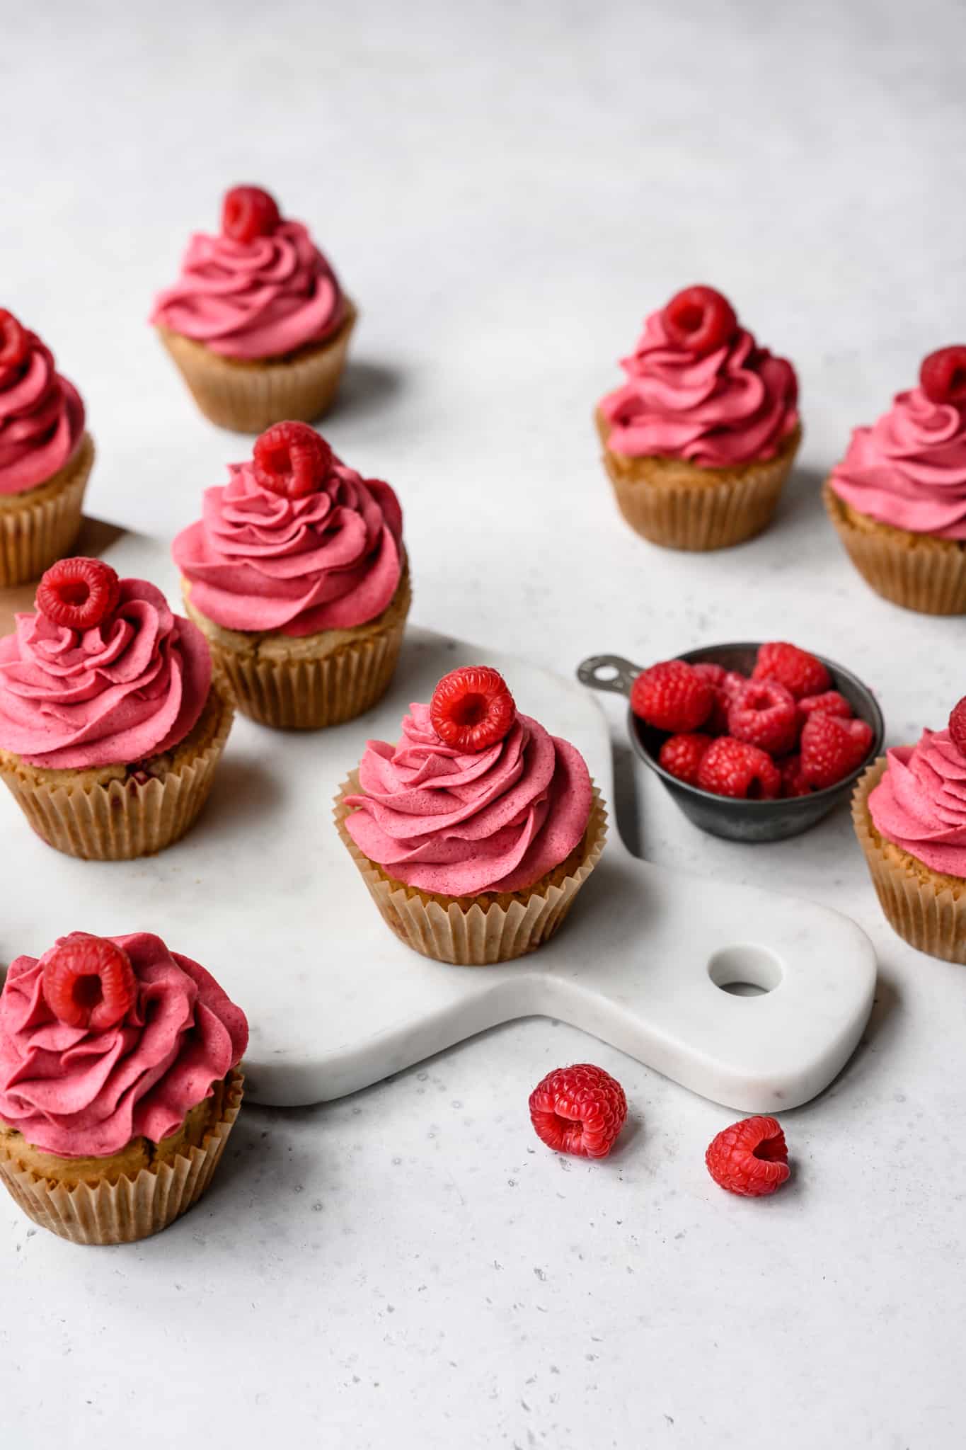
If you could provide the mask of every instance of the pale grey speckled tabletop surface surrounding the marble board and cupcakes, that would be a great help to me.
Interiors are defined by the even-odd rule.
[[[261,181],[361,306],[326,432],[398,487],[420,624],[565,673],[791,635],[879,690],[892,741],[943,724],[962,621],[872,596],[818,484],[966,331],[962,6],[4,0],[0,22],[0,303],[84,392],[94,512],[169,534],[240,455],[145,316],[223,187]],[[624,528],[589,423],[644,312],[694,280],[794,360],[805,420],[773,529],[708,557]],[[786,1118],[794,1183],[723,1195],[702,1153],[726,1114],[545,1021],[253,1109],[151,1243],[72,1248],[0,1204],[4,1443],[962,1443],[966,977],[891,935],[844,812],[711,841],[613,719],[630,844],[841,906],[879,950],[866,1044]],[[587,1057],[633,1105],[595,1166],[526,1119],[542,1073]]]

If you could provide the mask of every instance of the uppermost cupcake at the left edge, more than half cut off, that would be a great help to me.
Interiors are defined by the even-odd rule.
[[[0,309],[0,589],[39,579],[71,548],[93,463],[80,393]]]

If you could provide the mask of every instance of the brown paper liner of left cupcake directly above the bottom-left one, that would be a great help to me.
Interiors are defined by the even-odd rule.
[[[149,780],[51,779],[71,773],[35,771],[10,755],[0,761],[0,776],[48,845],[87,861],[130,861],[164,851],[194,825],[211,790],[232,718],[230,700],[213,689],[196,726],[204,726],[197,747],[178,747],[172,768]]]

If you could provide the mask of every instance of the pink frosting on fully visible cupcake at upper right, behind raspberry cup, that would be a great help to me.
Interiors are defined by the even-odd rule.
[[[672,342],[652,312],[627,383],[601,402],[608,448],[629,458],[686,458],[726,468],[773,458],[798,425],[798,381],[791,362],[759,348],[740,328],[705,357]]]

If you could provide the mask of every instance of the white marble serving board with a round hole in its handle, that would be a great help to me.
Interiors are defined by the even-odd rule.
[[[177,602],[162,544],[110,529],[88,539],[120,574],[152,579]],[[32,593],[22,590],[17,608]],[[0,599],[4,629],[9,606]],[[501,670],[520,708],[574,741],[611,799],[607,722],[582,686],[413,628],[392,689],[362,719],[285,734],[238,718],[201,819],[158,857],[59,856],[0,792],[0,960],[38,954],[67,931],[158,932],[245,1008],[248,1093],[280,1106],[339,1098],[532,1015],[571,1022],[743,1112],[820,1092],[869,1016],[866,935],[814,902],[640,861],[613,812],[600,866],[560,934],[532,957],[448,967],[392,937],[335,831],[333,796],[366,738],[395,740],[408,702],[429,699],[463,663]],[[736,995],[734,983],[759,992]]]

